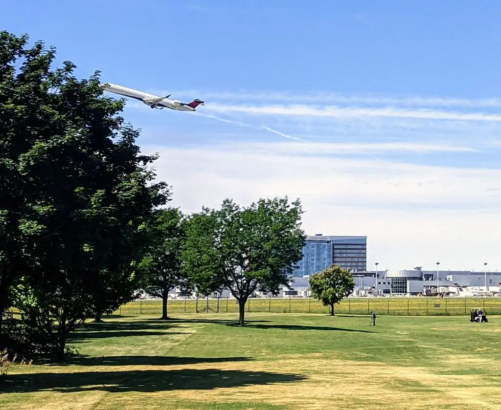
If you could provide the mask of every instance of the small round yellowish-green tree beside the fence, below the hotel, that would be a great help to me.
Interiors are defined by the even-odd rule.
[[[309,282],[312,296],[321,301],[324,306],[330,306],[333,316],[334,304],[353,293],[355,288],[355,281],[350,270],[337,265],[332,265],[321,273],[312,275]]]

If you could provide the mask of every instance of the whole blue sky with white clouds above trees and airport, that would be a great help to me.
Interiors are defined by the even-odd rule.
[[[187,212],[300,197],[309,234],[367,235],[368,262],[501,269],[501,4],[492,1],[21,0],[0,29],[130,101]]]

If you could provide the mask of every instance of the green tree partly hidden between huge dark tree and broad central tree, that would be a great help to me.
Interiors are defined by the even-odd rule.
[[[181,249],[185,242],[185,218],[178,208],[157,210],[148,226],[151,245],[141,263],[143,289],[162,298],[162,319],[168,319],[169,290],[188,288],[188,277],[181,269]]]

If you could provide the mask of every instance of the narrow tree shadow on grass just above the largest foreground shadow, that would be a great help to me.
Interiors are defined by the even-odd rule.
[[[252,360],[250,357],[180,357],[180,356],[74,356],[66,364],[79,366],[171,366],[198,363],[223,363]],[[61,365],[58,363],[57,365]]]

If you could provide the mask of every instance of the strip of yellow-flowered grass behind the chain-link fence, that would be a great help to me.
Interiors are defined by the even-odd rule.
[[[179,313],[236,313],[238,304],[234,298],[223,299],[176,299],[169,300],[169,312]],[[481,307],[487,314],[501,315],[501,297],[360,297],[343,299],[335,306],[336,312],[378,315],[469,315],[470,309]],[[256,313],[328,313],[329,307],[311,298],[251,298],[245,309]],[[115,314],[160,315],[160,300],[136,300],[118,309]]]

